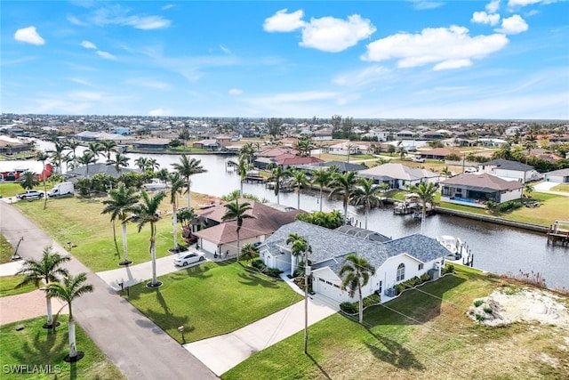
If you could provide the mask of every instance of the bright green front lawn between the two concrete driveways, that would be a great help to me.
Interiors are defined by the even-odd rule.
[[[282,280],[246,271],[237,263],[203,263],[160,278],[162,287],[139,284],[124,295],[181,342],[219,336],[301,300]]]

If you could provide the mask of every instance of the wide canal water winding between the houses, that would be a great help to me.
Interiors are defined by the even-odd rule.
[[[51,149],[52,144],[38,141],[41,149]],[[79,154],[79,150],[77,151]],[[162,154],[127,154],[131,166],[134,159],[142,157],[155,158],[160,167],[171,169],[171,164],[179,162],[175,155]],[[212,196],[223,196],[232,190],[239,189],[239,175],[228,171],[227,157],[215,155],[192,156],[202,161],[207,173],[192,176],[191,190]],[[65,165],[64,165],[65,166]],[[273,190],[268,190],[263,184],[244,183],[244,192],[268,202],[276,203]],[[280,204],[297,206],[297,194],[294,192],[281,193]],[[317,191],[301,193],[301,209],[315,211],[319,209]],[[342,209],[341,201],[324,198],[323,209],[330,211]],[[364,227],[365,215],[363,210],[349,206],[349,216]],[[554,222],[554,221],[551,221]],[[421,221],[414,220],[411,215],[396,215],[389,207],[376,208],[368,216],[368,229],[375,230],[393,239],[421,232]],[[543,233],[519,230],[512,227],[497,225],[489,222],[478,222],[458,216],[436,214],[429,216],[425,223],[424,234],[431,238],[441,235],[452,235],[465,241],[474,254],[474,266],[494,273],[540,273],[548,287],[569,288],[569,248],[560,245],[551,246]]]

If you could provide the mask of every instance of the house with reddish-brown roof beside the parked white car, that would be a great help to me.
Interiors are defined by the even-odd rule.
[[[296,215],[301,214],[297,209],[277,209],[251,199],[239,199],[239,203],[247,202],[252,209],[247,212],[254,218],[243,220],[239,230],[240,247],[247,243],[262,243],[283,224],[293,222]],[[212,254],[236,255],[237,233],[236,221],[223,221],[227,213],[223,205],[213,206],[197,213],[198,223],[193,226],[192,234],[197,237],[197,244]]]

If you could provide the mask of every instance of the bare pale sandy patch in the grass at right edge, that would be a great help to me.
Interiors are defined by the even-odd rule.
[[[469,317],[488,326],[540,322],[569,328],[569,311],[563,298],[547,290],[524,287],[515,292],[495,290],[469,307]]]

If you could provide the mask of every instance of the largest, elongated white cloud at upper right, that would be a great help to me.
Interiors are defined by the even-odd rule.
[[[468,28],[458,26],[425,28],[421,34],[397,33],[373,41],[361,59],[375,62],[397,59],[400,68],[435,63],[437,69],[455,69],[500,51],[508,42],[508,37],[501,34],[469,36]]]

